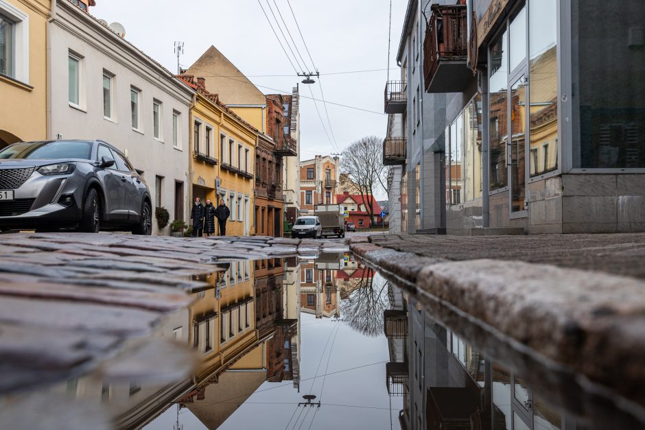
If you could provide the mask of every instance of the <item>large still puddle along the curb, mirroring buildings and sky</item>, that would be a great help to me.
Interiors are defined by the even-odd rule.
[[[349,254],[232,261],[187,280],[193,302],[156,327],[154,342],[132,341],[90,374],[0,398],[0,417],[16,428],[149,430],[643,422],[502,346],[483,342],[505,363],[486,357],[462,338],[482,344],[486,333],[423,309]],[[34,408],[66,418],[23,414]]]

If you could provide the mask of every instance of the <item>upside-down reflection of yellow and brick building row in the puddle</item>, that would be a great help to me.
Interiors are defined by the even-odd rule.
[[[160,370],[179,380],[170,384],[168,378],[119,382],[88,375],[54,391],[101,404],[117,428],[142,427],[174,403],[189,407],[213,428],[263,381],[293,379],[297,387],[299,282],[285,285],[287,278],[299,281],[294,270],[283,259],[235,261],[224,272],[191,276],[193,302],[169,315],[154,332],[160,342],[178,342],[198,355],[189,379],[182,376],[188,374],[189,363],[178,362],[176,368]],[[184,364],[187,368],[181,368]],[[143,367],[149,366],[156,366],[154,359]],[[219,404],[234,396],[232,403]]]

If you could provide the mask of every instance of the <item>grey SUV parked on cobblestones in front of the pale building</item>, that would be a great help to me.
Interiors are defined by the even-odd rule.
[[[152,233],[148,185],[103,141],[20,142],[0,151],[0,229]]]

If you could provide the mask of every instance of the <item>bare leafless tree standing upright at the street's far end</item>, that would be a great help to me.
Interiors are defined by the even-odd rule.
[[[383,139],[366,136],[349,145],[342,152],[340,171],[355,184],[370,216],[370,224],[373,225],[374,192],[388,190],[388,170],[383,165]]]

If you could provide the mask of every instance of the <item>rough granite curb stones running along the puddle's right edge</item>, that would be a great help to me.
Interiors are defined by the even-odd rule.
[[[645,406],[643,280],[512,260],[432,259],[367,237],[351,240],[350,249],[423,304],[465,313],[515,346]]]

